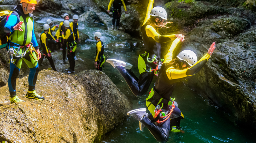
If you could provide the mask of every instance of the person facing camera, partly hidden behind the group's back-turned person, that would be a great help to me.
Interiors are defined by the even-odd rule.
[[[64,20],[69,20],[69,15],[67,13],[63,14],[63,19]],[[59,29],[56,32],[56,37],[57,37],[57,42],[59,42],[59,47],[62,50],[62,61],[61,64],[66,63],[66,45],[65,42],[63,40],[63,37],[61,35],[62,32],[66,32],[66,28],[63,25],[63,22],[60,23]]]

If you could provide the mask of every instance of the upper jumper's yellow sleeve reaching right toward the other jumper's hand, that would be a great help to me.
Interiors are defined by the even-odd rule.
[[[175,34],[173,34],[173,35],[163,35],[162,36],[159,33],[157,33],[155,28],[153,28],[151,25],[147,25],[146,34],[147,34],[148,37],[153,38],[158,43],[166,43],[166,42],[169,42],[169,41],[175,39]]]

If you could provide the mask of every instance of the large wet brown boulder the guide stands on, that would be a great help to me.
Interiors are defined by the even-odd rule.
[[[97,143],[131,109],[127,97],[101,71],[72,76],[40,71],[36,91],[43,101],[25,98],[27,80],[18,79],[16,87],[26,102],[10,104],[8,86],[0,88],[1,142]]]

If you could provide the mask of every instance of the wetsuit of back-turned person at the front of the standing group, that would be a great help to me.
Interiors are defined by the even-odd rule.
[[[65,41],[66,46],[68,47],[68,61],[69,61],[69,68],[72,71],[75,71],[75,50],[76,50],[76,42],[75,42],[75,36],[73,31],[68,28],[66,32],[64,33],[65,35],[62,35],[62,38]]]

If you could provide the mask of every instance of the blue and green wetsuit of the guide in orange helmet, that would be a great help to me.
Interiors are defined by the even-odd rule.
[[[8,78],[8,86],[11,97],[16,95],[16,78],[19,75],[22,60],[28,65],[30,71],[28,76],[28,90],[35,90],[35,83],[39,72],[38,61],[35,50],[38,49],[38,43],[34,33],[34,20],[33,14],[24,14],[20,5],[14,8],[20,16],[20,21],[23,21],[21,29],[23,31],[14,30],[13,27],[19,22],[15,14],[11,14],[5,24],[4,31],[10,33],[8,50],[14,48],[16,52],[22,54],[26,51],[24,57],[15,57],[13,55],[14,62],[10,62],[10,74]],[[33,43],[33,46],[32,44]],[[23,46],[23,47],[20,47]],[[19,48],[20,47],[20,48]]]

